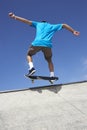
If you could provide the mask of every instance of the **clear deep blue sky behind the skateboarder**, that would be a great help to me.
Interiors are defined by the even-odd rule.
[[[50,85],[25,78],[28,73],[26,55],[35,38],[35,29],[11,19],[8,13],[52,24],[66,23],[80,32],[74,36],[66,29],[53,37],[55,84],[87,80],[87,1],[86,0],[0,0],[0,91]],[[35,75],[49,76],[42,52],[33,56]]]

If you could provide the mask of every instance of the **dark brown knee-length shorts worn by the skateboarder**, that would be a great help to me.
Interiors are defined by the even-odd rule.
[[[33,56],[37,52],[42,51],[45,58],[51,58],[52,57],[52,50],[49,47],[40,47],[40,46],[31,46],[28,50],[27,55]]]

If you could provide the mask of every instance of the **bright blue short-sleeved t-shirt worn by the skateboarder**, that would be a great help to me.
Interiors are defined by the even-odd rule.
[[[32,27],[36,28],[36,37],[32,42],[33,46],[52,47],[54,33],[62,29],[62,24],[49,24],[47,22],[32,21]]]

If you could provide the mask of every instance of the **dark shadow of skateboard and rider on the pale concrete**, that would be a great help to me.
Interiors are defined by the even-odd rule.
[[[54,92],[54,93],[58,93],[61,89],[62,89],[62,84],[30,88],[31,91],[37,91],[38,93],[42,93],[44,90],[48,90],[48,91],[51,91],[51,92]]]

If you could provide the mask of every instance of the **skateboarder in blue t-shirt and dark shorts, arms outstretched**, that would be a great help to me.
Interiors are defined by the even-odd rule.
[[[80,32],[74,30],[67,24],[50,24],[46,21],[36,22],[31,21],[19,16],[16,16],[14,13],[9,13],[9,16],[15,20],[19,20],[26,24],[29,24],[31,27],[36,29],[36,37],[32,42],[28,53],[27,61],[29,64],[29,73],[27,75],[32,75],[35,73],[35,68],[33,65],[32,56],[37,52],[42,51],[46,61],[48,62],[48,67],[50,71],[50,76],[54,77],[54,65],[52,62],[52,37],[56,31],[59,31],[63,28],[69,30],[75,36],[78,36]]]

